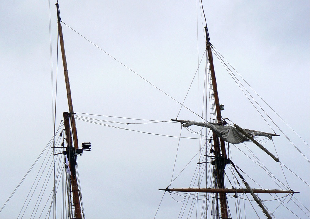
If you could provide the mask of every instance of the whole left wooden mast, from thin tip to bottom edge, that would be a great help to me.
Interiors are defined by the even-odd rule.
[[[60,39],[62,61],[63,61],[63,66],[64,66],[64,78],[66,82],[66,90],[67,90],[67,97],[68,97],[68,104],[69,104],[69,113],[68,112],[63,113],[64,126],[65,126],[66,139],[67,139],[66,155],[69,161],[69,168],[71,171],[71,175],[70,175],[71,185],[72,185],[71,192],[73,196],[75,218],[82,218],[81,204],[80,204],[81,193],[78,188],[78,181],[77,181],[76,167],[75,167],[76,166],[76,151],[79,149],[78,148],[78,136],[77,136],[77,130],[76,130],[76,125],[75,125],[75,119],[74,119],[75,113],[73,111],[73,104],[72,104],[71,90],[70,90],[70,83],[69,83],[69,74],[68,74],[68,68],[67,68],[66,55],[64,51],[64,38],[62,34],[61,18],[60,18],[58,3],[56,4],[56,8],[57,8],[57,17],[58,17],[58,33],[59,33],[59,39]],[[74,147],[72,145],[72,136],[71,136],[71,130],[70,130],[70,124],[69,124],[70,120],[71,120]],[[71,208],[71,206],[69,207]]]

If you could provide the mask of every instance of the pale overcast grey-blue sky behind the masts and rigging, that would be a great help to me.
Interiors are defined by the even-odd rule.
[[[1,1],[1,207],[53,136],[57,70],[55,3]],[[213,46],[309,145],[309,1],[203,1],[203,4]],[[63,24],[75,112],[159,121],[176,118],[180,104],[150,83],[183,102],[205,50],[205,24],[199,2],[59,1],[59,5],[65,24],[123,64]],[[202,69],[199,80],[204,77]],[[272,129],[263,121],[216,58],[215,72],[220,103],[225,107],[223,117],[243,128],[265,132],[274,129],[281,135],[274,138],[280,161],[309,184],[309,162],[270,120]],[[184,105],[201,114],[202,93],[197,94],[198,89],[201,91],[197,77]],[[68,111],[66,101],[59,58],[56,125],[62,120],[62,112]],[[309,147],[262,105],[309,159]],[[199,119],[184,107],[178,118]],[[117,121],[134,123],[126,119]],[[180,124],[174,123],[116,126],[161,135],[180,134]],[[153,218],[163,195],[158,189],[166,188],[171,181],[178,138],[81,120],[77,120],[77,130],[80,144],[90,141],[93,145],[91,152],[78,158],[85,216]],[[187,130],[182,132],[185,137],[197,137]],[[197,153],[197,145],[195,140],[181,141],[177,173]],[[273,145],[269,149],[276,153]],[[256,167],[235,153],[238,158],[235,163],[241,168],[245,166],[251,177],[259,178]],[[279,168],[276,172],[281,171],[266,154],[258,153],[259,159]],[[197,159],[191,162],[181,182],[171,187],[189,186],[190,171],[196,168]],[[286,173],[291,189],[301,192],[296,194],[298,200],[309,206],[309,186],[289,171]],[[17,200],[24,199],[28,194],[25,189],[32,185],[31,180],[25,183],[18,191],[20,198],[3,209],[1,218],[17,217],[21,208],[17,205],[23,204]],[[157,217],[178,217],[180,208],[181,204],[166,194]],[[293,211],[306,217],[297,207]],[[286,212],[276,216],[295,217]]]

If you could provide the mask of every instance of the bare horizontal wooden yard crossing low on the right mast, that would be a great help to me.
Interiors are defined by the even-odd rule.
[[[167,192],[221,192],[221,193],[250,193],[250,190],[246,188],[235,189],[235,188],[166,188],[158,189]],[[299,193],[290,190],[276,190],[276,189],[252,189],[257,194],[293,194]]]

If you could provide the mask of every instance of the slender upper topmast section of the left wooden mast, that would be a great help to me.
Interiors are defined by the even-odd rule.
[[[72,128],[72,135],[73,135],[73,144],[75,149],[78,149],[78,135],[77,129],[74,119],[74,111],[73,111],[73,103],[71,97],[71,90],[70,90],[70,82],[69,82],[69,74],[68,74],[68,67],[67,67],[67,60],[66,60],[66,53],[64,51],[64,37],[62,34],[62,27],[61,27],[61,18],[59,12],[58,3],[56,3],[57,7],[57,17],[58,17],[58,33],[59,33],[59,40],[60,40],[60,48],[61,48],[61,55],[62,55],[62,63],[64,66],[64,79],[66,82],[66,90],[67,90],[67,98],[68,98],[68,105],[69,105],[69,112],[71,114],[71,128]]]

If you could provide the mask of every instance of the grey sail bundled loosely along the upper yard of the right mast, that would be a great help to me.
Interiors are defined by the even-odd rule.
[[[198,126],[210,128],[221,139],[231,144],[239,144],[239,143],[251,140],[250,138],[246,137],[244,134],[240,133],[233,126],[223,126],[223,125],[218,125],[218,124],[187,121],[187,120],[172,120],[172,121],[181,122],[184,128],[191,126],[191,125],[198,125]],[[266,136],[270,140],[272,140],[272,136],[279,136],[279,135],[272,134],[272,133],[259,132],[259,131],[254,131],[250,129],[243,129],[243,131],[252,137]]]

